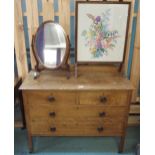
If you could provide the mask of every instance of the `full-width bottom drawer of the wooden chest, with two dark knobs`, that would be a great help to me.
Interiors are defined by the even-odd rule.
[[[35,122],[31,125],[33,135],[49,136],[118,136],[123,133],[122,123],[102,124],[61,124],[54,125],[45,122]]]

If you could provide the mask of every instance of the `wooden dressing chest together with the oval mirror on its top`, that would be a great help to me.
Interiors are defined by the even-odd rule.
[[[75,70],[66,67],[69,39],[52,21],[38,28],[32,45],[37,65],[20,87],[30,152],[35,136],[116,136],[122,152],[133,90],[129,80],[105,66],[78,68],[75,78]]]

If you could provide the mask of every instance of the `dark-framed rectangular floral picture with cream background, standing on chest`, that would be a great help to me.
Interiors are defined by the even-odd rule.
[[[130,2],[76,2],[76,56],[80,63],[122,63]]]

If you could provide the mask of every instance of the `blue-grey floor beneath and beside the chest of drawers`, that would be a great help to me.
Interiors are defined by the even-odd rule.
[[[135,155],[139,127],[129,127],[122,155]],[[31,155],[118,155],[114,137],[36,137]],[[15,155],[28,155],[26,130],[15,129]]]

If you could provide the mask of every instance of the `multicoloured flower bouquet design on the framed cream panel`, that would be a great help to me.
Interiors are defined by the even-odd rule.
[[[92,24],[87,30],[83,30],[81,35],[93,58],[103,57],[108,55],[108,52],[113,52],[120,37],[118,30],[110,29],[110,12],[111,10],[107,9],[98,16],[86,14]]]

